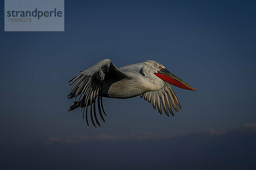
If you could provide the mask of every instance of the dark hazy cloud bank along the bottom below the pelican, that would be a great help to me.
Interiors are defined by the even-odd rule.
[[[256,124],[179,136],[48,137],[43,143],[2,147],[0,169],[256,169],[255,143]]]

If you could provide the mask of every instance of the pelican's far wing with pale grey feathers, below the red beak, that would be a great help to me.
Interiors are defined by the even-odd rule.
[[[169,116],[169,112],[172,114],[172,116],[174,116],[170,102],[172,103],[172,106],[175,109],[175,111],[179,112],[177,106],[181,109],[180,102],[178,101],[177,96],[169,82],[164,82],[163,88],[161,88],[159,91],[149,91],[145,94],[140,95],[140,98],[144,98],[149,103],[152,102],[154,109],[156,109],[157,105],[157,109],[160,114],[162,114],[162,102],[163,110],[165,111],[167,116]]]

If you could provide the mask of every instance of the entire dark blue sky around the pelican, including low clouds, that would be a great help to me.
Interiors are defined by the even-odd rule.
[[[4,9],[4,2],[0,2]],[[64,32],[5,32],[0,12],[1,169],[254,169],[256,3],[65,1]],[[197,91],[182,107],[103,99],[102,128],[67,112],[68,81],[101,59],[152,59]]]

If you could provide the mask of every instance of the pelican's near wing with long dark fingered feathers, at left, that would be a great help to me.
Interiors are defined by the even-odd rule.
[[[73,77],[69,81],[70,82],[69,85],[73,85],[73,84],[74,85],[71,88],[71,92],[67,95],[67,98],[77,99],[79,97],[79,99],[78,101],[74,102],[74,105],[71,106],[68,111],[72,111],[76,108],[81,108],[81,111],[83,110],[83,119],[84,119],[84,109],[86,108],[85,117],[86,117],[86,122],[88,126],[89,126],[88,119],[87,119],[88,106],[90,106],[90,117],[94,127],[96,127],[96,125],[93,121],[93,115],[94,115],[94,119],[96,120],[96,123],[100,126],[96,116],[96,106],[95,106],[96,99],[98,104],[99,115],[102,121],[105,122],[105,119],[102,115],[102,111],[106,115],[102,105],[102,82],[105,78],[105,74],[108,74],[109,72],[111,72],[111,74],[113,75],[116,75],[116,74],[125,75],[121,71],[119,71],[119,69],[116,68],[115,65],[112,64],[110,59],[103,59],[97,62],[92,67],[88,68],[87,70],[80,71],[79,74],[77,74],[75,77]]]

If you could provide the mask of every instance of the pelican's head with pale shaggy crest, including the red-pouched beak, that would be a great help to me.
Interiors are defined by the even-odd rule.
[[[143,73],[149,79],[154,80],[154,82],[159,82],[159,80],[162,80],[162,82],[169,82],[170,84],[179,88],[195,91],[195,88],[192,88],[186,82],[183,82],[180,78],[168,71],[162,64],[153,60],[147,60],[144,62],[144,64],[145,66],[143,67]]]

